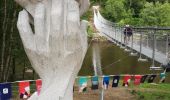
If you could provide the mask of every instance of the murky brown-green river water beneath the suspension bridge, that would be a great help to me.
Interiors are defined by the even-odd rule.
[[[79,72],[80,76],[94,75],[93,48],[95,47],[100,49],[99,55],[104,75],[143,75],[163,72],[149,69],[152,64],[151,59],[148,59],[148,62],[138,62],[139,56],[129,56],[130,53],[111,42],[92,42]],[[156,63],[156,66],[159,65],[159,63]],[[159,80],[159,76],[157,76],[157,80]],[[170,83],[170,73],[167,73],[166,82]]]

